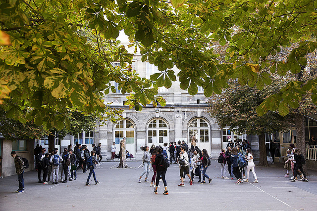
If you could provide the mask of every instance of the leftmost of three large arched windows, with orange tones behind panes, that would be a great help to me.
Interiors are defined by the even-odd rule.
[[[121,120],[114,127],[115,143],[120,144],[124,137],[127,144],[134,144],[135,126],[130,120]]]

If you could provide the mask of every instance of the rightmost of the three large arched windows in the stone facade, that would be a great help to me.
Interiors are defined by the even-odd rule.
[[[192,137],[195,137],[200,143],[209,142],[209,126],[204,119],[194,119],[189,123],[188,126],[189,142]]]

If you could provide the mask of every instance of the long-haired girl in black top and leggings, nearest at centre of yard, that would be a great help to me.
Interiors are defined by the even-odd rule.
[[[165,174],[166,174],[166,166],[165,166],[165,160],[164,160],[164,155],[162,154],[162,149],[158,148],[157,150],[157,155],[154,161],[154,165],[156,166],[156,170],[157,170],[157,179],[156,179],[156,186],[155,186],[155,190],[154,193],[157,194],[158,193],[158,187],[159,187],[159,178],[161,178],[163,180],[163,184],[164,184],[164,188],[165,191],[163,192],[164,195],[168,195],[168,191],[167,191],[167,183],[166,183],[166,179],[165,179]]]

